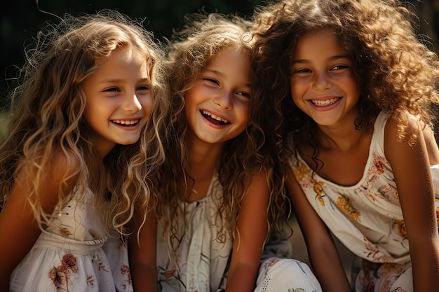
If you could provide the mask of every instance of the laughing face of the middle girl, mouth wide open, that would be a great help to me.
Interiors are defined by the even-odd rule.
[[[218,144],[245,130],[250,103],[250,61],[243,50],[215,55],[184,97],[189,137]]]

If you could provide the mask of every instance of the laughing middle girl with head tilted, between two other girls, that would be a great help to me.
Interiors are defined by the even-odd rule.
[[[320,291],[308,266],[280,258],[281,244],[263,252],[286,214],[273,168],[257,152],[262,132],[249,120],[258,105],[251,23],[217,13],[185,23],[168,46],[173,109],[166,161],[153,178],[155,218],[150,212],[130,249],[136,291]]]

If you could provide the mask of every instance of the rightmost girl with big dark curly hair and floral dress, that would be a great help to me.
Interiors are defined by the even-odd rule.
[[[436,291],[438,57],[397,1],[284,0],[257,11],[253,96],[324,291]],[[438,191],[438,190],[436,190]]]

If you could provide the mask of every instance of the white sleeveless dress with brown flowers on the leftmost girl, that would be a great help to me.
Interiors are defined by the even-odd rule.
[[[88,188],[83,196],[76,191],[15,267],[10,291],[116,291],[112,266],[102,251],[106,240],[107,233],[95,212],[93,193]],[[130,286],[128,276],[126,279]]]

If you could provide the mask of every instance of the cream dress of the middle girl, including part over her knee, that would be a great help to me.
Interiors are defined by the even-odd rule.
[[[158,224],[159,292],[225,291],[233,239],[222,230],[224,222],[216,216],[221,200],[222,187],[215,174],[203,199],[182,204],[186,224],[179,224],[176,231],[179,236],[185,234],[175,254],[168,251],[163,228]],[[170,235],[166,234],[165,238],[169,240]],[[255,291],[321,291],[320,284],[305,263],[280,258],[290,256],[288,239],[265,247]]]

